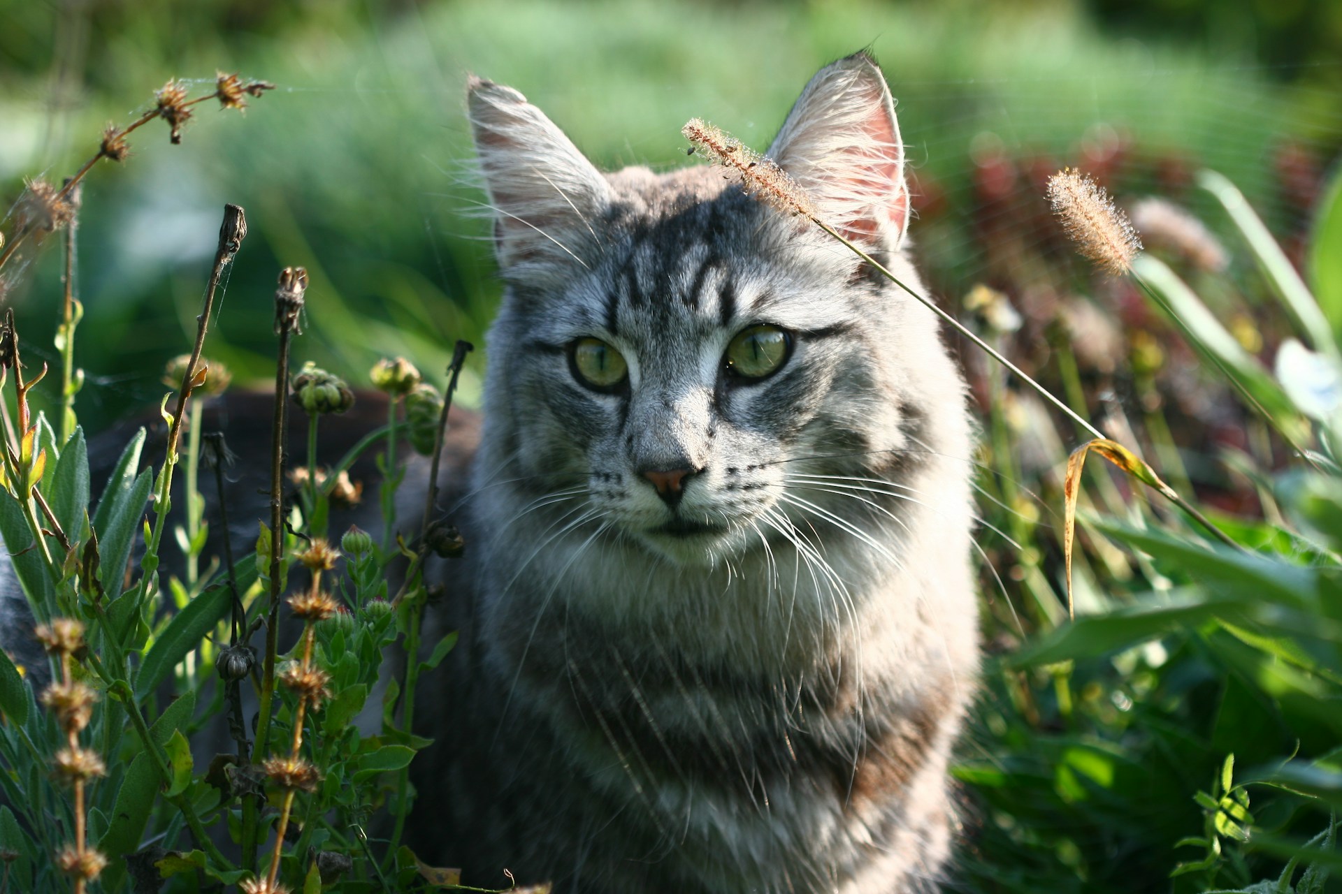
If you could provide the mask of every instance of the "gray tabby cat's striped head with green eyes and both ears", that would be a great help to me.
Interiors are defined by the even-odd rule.
[[[686,564],[804,550],[805,524],[839,524],[845,477],[907,458],[926,416],[907,369],[941,347],[856,256],[713,169],[601,176],[506,87],[474,84],[471,117],[510,281],[487,424],[557,527]],[[870,60],[821,71],[769,154],[906,268],[902,147]]]

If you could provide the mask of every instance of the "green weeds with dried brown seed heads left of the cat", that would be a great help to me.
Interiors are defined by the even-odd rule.
[[[123,161],[133,131],[164,119],[176,143],[197,103],[217,99],[236,109],[268,88],[220,75],[213,91],[191,99],[169,82],[130,125],[109,127],[62,188],[28,184],[0,247],[0,273],[56,232],[64,235],[72,268],[79,181],[102,159]],[[227,533],[224,466],[231,458],[221,436],[201,430],[199,393],[227,386],[227,373],[211,366],[204,348],[220,281],[246,236],[243,209],[227,205],[195,343],[169,367],[176,394],[162,401],[161,461],[144,456],[141,428],[97,500],[76,416],[82,308],[72,277],[56,332],[63,359],[58,425],[30,401],[47,367],[32,375],[24,365],[12,308],[0,328],[0,386],[12,382],[0,402],[0,537],[46,651],[36,661],[0,653],[0,891],[236,885],[247,894],[274,894],[452,881],[451,873],[420,863],[400,838],[412,803],[407,768],[428,744],[409,732],[416,684],[455,642],[450,634],[421,643],[424,560],[459,555],[462,543],[435,515],[436,487],[427,488],[413,528],[397,519],[404,477],[397,432],[433,456],[429,480],[436,481],[470,344],[458,344],[446,397],[405,361],[374,367],[372,383],[388,394],[386,424],[333,465],[318,466],[318,458],[329,460],[318,457],[321,420],[349,410],[354,393],[311,363],[290,374],[307,275],[285,268],[274,312],[270,515],[258,520],[254,556],[235,560],[221,536],[223,567],[208,556],[203,571],[209,525],[200,473],[215,473]],[[307,465],[295,469],[286,468],[291,403],[306,414],[309,430]],[[382,536],[350,528],[337,540],[327,531],[330,505],[361,497],[348,470],[362,453],[378,450]],[[178,465],[185,488],[178,481],[174,491]],[[185,513],[172,513],[174,493],[185,497]],[[421,536],[407,540],[408,529]],[[286,651],[282,639],[295,631]],[[386,661],[395,651],[400,661]],[[259,705],[254,724],[243,689],[252,689],[247,701]],[[354,720],[374,690],[382,700],[380,720],[361,732],[366,725]],[[217,744],[207,728],[213,716],[223,717],[235,748],[200,767],[196,756]],[[380,824],[389,835],[370,840],[368,830]]]

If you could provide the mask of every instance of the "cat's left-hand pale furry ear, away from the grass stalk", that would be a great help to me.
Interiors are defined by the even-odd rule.
[[[539,281],[590,267],[590,220],[611,201],[605,178],[511,87],[472,76],[467,109],[503,275]]]

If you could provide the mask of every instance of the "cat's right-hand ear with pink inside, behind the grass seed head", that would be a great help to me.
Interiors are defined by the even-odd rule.
[[[898,248],[909,227],[905,146],[895,102],[866,52],[821,68],[797,99],[769,157],[821,220],[868,249]]]

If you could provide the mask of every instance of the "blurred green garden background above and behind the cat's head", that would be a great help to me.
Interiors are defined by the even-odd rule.
[[[72,173],[169,78],[192,95],[216,71],[276,84],[244,114],[201,105],[180,146],[154,122],[123,165],[86,178],[81,418],[94,426],[161,397],[224,202],[247,209],[250,237],[211,353],[242,378],[270,375],[271,294],[290,264],[313,276],[301,359],[360,379],[380,355],[440,370],[455,338],[479,343],[499,284],[470,178],[467,72],[523,91],[600,165],[667,169],[687,164],[687,118],[766,147],[819,66],[870,47],[898,98],[930,283],[957,307],[976,283],[1004,291],[1043,351],[1060,298],[1114,298],[1066,260],[1048,173],[1198,204],[1189,180],[1208,165],[1292,240],[1342,143],[1342,4],[1327,0],[0,0],[0,23],[5,209],[23,178]],[[5,271],[35,355],[59,255]]]

